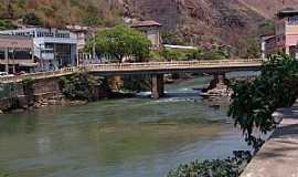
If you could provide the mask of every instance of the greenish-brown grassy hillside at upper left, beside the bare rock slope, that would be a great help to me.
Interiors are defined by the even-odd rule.
[[[42,25],[110,27],[120,21],[121,13],[117,0],[0,0],[0,18],[14,23],[33,14]]]

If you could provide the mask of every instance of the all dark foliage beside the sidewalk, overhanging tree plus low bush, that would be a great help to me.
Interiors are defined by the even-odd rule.
[[[278,123],[272,114],[279,107],[289,107],[298,95],[298,61],[288,55],[273,55],[260,69],[260,75],[255,80],[241,80],[230,83],[233,90],[228,115],[235,121],[235,126],[243,131],[245,140],[254,152],[234,153],[234,157],[193,162],[180,165],[168,177],[238,177],[259,150],[264,143],[260,132],[267,134]],[[256,136],[258,135],[258,136]]]

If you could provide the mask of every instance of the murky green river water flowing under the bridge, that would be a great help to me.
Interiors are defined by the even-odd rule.
[[[199,96],[211,77],[168,85],[168,97],[102,101],[0,116],[0,171],[12,177],[163,177],[179,164],[247,149]]]

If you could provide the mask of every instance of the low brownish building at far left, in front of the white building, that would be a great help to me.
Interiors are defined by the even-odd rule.
[[[33,52],[32,38],[0,34],[0,71],[33,72],[36,66]]]

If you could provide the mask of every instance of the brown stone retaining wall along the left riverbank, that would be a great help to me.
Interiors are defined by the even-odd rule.
[[[68,101],[63,95],[58,77],[42,79],[33,81],[32,85],[24,86],[22,83],[14,83],[13,88],[8,87],[9,94],[1,95],[0,111],[10,111],[15,108],[39,108],[47,105],[68,105]],[[93,88],[92,101],[98,101],[109,97],[109,88],[96,86]]]

